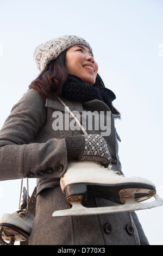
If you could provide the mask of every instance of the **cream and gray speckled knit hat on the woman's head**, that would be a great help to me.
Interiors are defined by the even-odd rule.
[[[56,59],[59,54],[74,45],[84,45],[92,52],[89,43],[83,38],[76,35],[64,35],[59,38],[49,40],[45,44],[40,44],[35,48],[34,60],[37,68],[42,71],[46,68],[53,59]]]

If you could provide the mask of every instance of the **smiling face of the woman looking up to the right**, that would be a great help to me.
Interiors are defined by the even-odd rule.
[[[74,45],[66,52],[66,70],[69,75],[78,76],[92,86],[96,81],[98,64],[89,48],[84,45]]]

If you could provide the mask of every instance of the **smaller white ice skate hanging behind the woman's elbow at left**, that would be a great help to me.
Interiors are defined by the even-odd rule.
[[[24,188],[24,199],[20,210],[13,214],[3,214],[0,216],[1,245],[14,245],[16,241],[21,242],[29,239],[35,217],[36,187],[29,202],[26,200],[26,193],[27,191]]]

